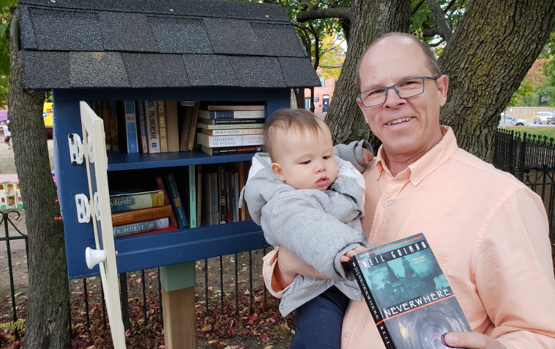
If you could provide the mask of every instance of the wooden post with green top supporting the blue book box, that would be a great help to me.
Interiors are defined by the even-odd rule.
[[[195,262],[160,267],[164,344],[196,349]]]

